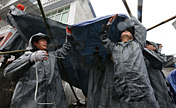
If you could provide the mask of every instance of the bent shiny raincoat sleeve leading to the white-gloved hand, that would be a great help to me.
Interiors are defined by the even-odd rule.
[[[31,53],[32,54],[32,53]],[[10,80],[18,80],[34,63],[30,62],[31,54],[24,54],[4,69],[4,76]]]

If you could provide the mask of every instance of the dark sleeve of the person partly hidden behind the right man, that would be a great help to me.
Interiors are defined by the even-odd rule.
[[[166,57],[160,53],[156,53],[154,51],[150,51],[147,48],[144,48],[143,55],[149,62],[156,68],[162,69],[166,63]]]

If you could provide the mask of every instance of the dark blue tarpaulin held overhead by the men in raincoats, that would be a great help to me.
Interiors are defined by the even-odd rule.
[[[24,41],[28,41],[33,34],[38,32],[48,34],[41,16],[18,11],[20,10],[14,9],[13,7],[11,9],[11,14],[7,15],[7,19],[9,23],[17,29]],[[85,95],[87,95],[89,72],[80,67],[80,58],[81,56],[84,56],[86,58],[85,64],[87,65],[94,64],[93,52],[95,46],[100,47],[100,55],[105,58],[107,51],[105,51],[99,40],[99,32],[101,31],[102,24],[106,24],[111,17],[112,15],[108,15],[72,25],[72,34],[75,38],[75,44],[70,56],[63,60],[63,64],[72,85],[82,89]],[[114,22],[114,25],[119,21],[125,20],[126,18],[126,15],[119,14]],[[50,26],[56,46],[62,46],[65,41],[65,31],[67,25],[51,19],[47,19],[47,22]],[[112,32],[114,30],[116,32]],[[112,26],[109,35],[112,40],[117,41],[119,37],[113,37],[118,36],[114,35],[114,33],[119,34],[120,31],[117,31],[116,27]],[[50,50],[53,50],[52,43],[50,44]],[[67,81],[62,70],[60,71],[60,74],[62,79]]]

